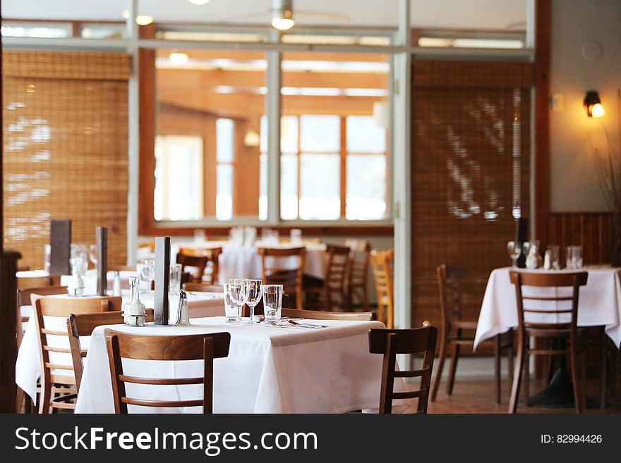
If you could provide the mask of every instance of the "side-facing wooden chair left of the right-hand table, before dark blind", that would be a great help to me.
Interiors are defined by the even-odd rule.
[[[440,381],[442,381],[442,370],[448,350],[452,348],[451,364],[447,379],[447,395],[453,392],[455,381],[455,371],[457,361],[462,346],[474,346],[474,331],[476,331],[476,321],[462,320],[462,276],[464,271],[447,267],[442,264],[436,268],[438,274],[438,289],[440,290],[440,314],[442,315],[442,333],[440,334],[440,357],[438,358],[438,368],[435,369],[435,380],[431,391],[431,402],[438,395]],[[469,335],[464,335],[463,331],[471,331]],[[500,404],[501,381],[500,381],[500,354],[507,350],[507,370],[509,378],[512,378],[513,371],[513,330],[505,335],[496,335],[488,342],[494,343],[494,381],[495,381],[495,401]]]

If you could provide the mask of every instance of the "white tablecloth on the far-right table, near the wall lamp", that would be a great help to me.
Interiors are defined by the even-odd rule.
[[[606,334],[619,347],[621,345],[621,268],[593,267],[583,270],[589,272],[589,278],[586,286],[580,288],[578,326],[605,326]],[[510,282],[509,271],[510,268],[508,267],[496,268],[490,274],[481,305],[481,314],[478,316],[478,325],[474,337],[475,349],[482,340],[517,327],[515,287]],[[545,270],[524,271],[545,272]],[[530,292],[527,293],[528,291]],[[561,295],[563,291],[567,291],[569,294],[571,288],[524,287],[524,294],[530,295],[533,295],[534,292],[537,292],[538,295]],[[539,304],[541,306],[541,302]],[[546,304],[556,303],[546,302]],[[544,314],[543,317],[549,318],[550,316]],[[562,321],[558,319],[559,316],[553,317],[554,319],[550,321]],[[546,319],[538,320],[546,321]]]

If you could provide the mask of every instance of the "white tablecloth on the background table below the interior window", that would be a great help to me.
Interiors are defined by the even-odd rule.
[[[227,241],[207,241],[204,243],[197,242],[174,242],[171,245],[171,262],[176,261],[176,255],[179,248],[186,247],[190,249],[207,249],[210,247],[222,247],[222,254],[218,259],[219,265],[219,281],[226,283],[231,278],[261,278],[261,258],[258,254],[260,242],[253,247],[243,247],[234,245]],[[325,264],[327,254],[325,254],[325,245],[320,243],[306,243],[306,262],[304,273],[316,278],[323,278],[325,275]],[[279,244],[265,245],[265,247],[297,247],[297,245]],[[287,261],[289,260],[289,261]],[[296,266],[297,259],[280,259],[279,266],[282,268],[293,268]]]

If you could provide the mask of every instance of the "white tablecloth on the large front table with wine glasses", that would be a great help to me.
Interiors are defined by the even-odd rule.
[[[214,362],[215,413],[339,413],[378,407],[382,356],[369,354],[368,330],[378,321],[313,321],[330,328],[235,326],[224,317],[195,319],[190,327],[111,328],[152,335],[231,333],[229,357]],[[92,333],[80,385],[77,413],[114,413],[104,327]],[[202,362],[123,360],[127,374],[201,376]],[[130,396],[183,400],[200,398],[201,385],[127,384]],[[136,388],[140,393],[136,394]],[[201,412],[187,409],[129,407],[139,412]]]

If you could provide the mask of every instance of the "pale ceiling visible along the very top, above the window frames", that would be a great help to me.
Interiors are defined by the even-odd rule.
[[[4,0],[1,5],[2,16],[11,19],[122,20],[121,13],[128,9],[128,3]],[[298,25],[397,27],[398,4],[399,0],[294,0],[294,19]],[[187,0],[139,0],[138,13],[152,16],[157,22],[268,25],[270,6],[271,0],[210,0],[204,6]],[[411,0],[413,27],[523,30],[525,20],[526,0]]]

